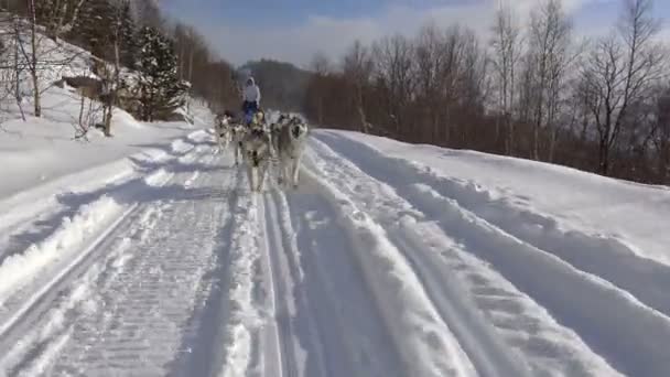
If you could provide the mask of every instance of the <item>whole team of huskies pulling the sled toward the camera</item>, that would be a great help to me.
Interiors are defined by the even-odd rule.
[[[225,111],[217,115],[214,131],[219,153],[233,143],[236,165],[241,157],[252,192],[263,190],[273,159],[279,162],[279,184],[298,187],[301,159],[310,134],[304,120],[282,114],[275,122],[268,125],[264,112],[258,110],[245,126],[230,111]]]

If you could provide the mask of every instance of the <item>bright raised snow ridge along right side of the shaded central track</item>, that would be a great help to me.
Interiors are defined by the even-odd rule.
[[[386,230],[358,204],[333,185],[305,171],[334,208],[346,229],[386,328],[411,376],[474,376],[475,368],[449,326],[440,317],[419,278]],[[364,251],[365,250],[365,251]]]

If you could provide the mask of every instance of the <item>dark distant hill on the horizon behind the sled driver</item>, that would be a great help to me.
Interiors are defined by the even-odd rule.
[[[253,75],[261,90],[261,106],[283,111],[300,111],[311,73],[291,63],[272,60],[248,62],[238,68],[240,85]]]

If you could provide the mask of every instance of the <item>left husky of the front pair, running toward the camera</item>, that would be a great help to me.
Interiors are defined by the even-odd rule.
[[[270,134],[261,127],[252,127],[241,141],[241,146],[249,186],[252,192],[261,192],[271,158]]]

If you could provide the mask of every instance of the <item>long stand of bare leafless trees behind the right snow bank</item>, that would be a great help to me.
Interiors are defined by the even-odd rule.
[[[415,39],[382,37],[371,46],[363,100],[350,86],[357,64],[345,64],[342,73],[314,75],[322,79],[312,79],[320,86],[310,86],[311,101],[325,100],[306,112],[353,129],[360,107],[379,126],[372,133],[403,141],[668,182],[670,96],[659,90],[670,78],[666,50],[655,37],[651,0],[623,1],[617,32],[590,44],[574,37],[561,0],[539,1],[523,35],[501,9],[487,50],[456,26],[428,24]],[[361,50],[355,45],[345,62],[359,62]]]

